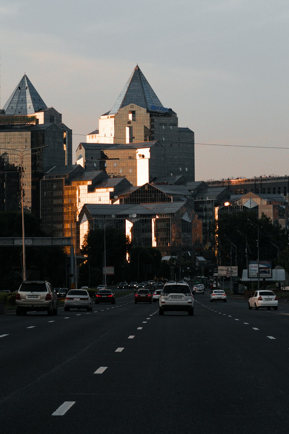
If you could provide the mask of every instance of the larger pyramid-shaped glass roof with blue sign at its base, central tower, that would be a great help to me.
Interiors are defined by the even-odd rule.
[[[129,104],[139,105],[147,110],[151,110],[152,106],[155,107],[154,110],[163,108],[162,103],[137,65],[109,114],[113,115]]]

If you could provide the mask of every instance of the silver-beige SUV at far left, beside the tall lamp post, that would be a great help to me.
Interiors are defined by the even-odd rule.
[[[57,315],[57,294],[47,280],[26,280],[16,294],[16,315],[26,315],[28,311],[47,311]]]

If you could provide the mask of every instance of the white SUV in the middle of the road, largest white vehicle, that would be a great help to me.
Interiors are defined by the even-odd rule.
[[[194,315],[194,298],[187,284],[166,283],[163,287],[159,297],[159,315],[169,310],[183,310]]]

